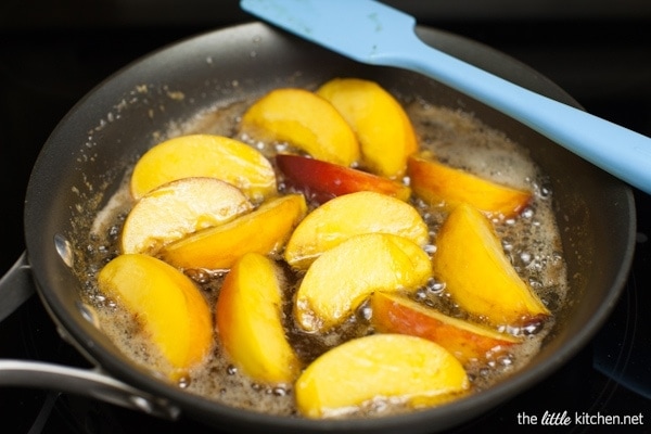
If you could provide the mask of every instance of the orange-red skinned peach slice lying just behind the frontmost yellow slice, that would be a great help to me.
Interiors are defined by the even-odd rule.
[[[502,354],[521,340],[484,326],[449,317],[399,294],[371,295],[371,323],[382,333],[401,333],[436,342],[467,365]]]

